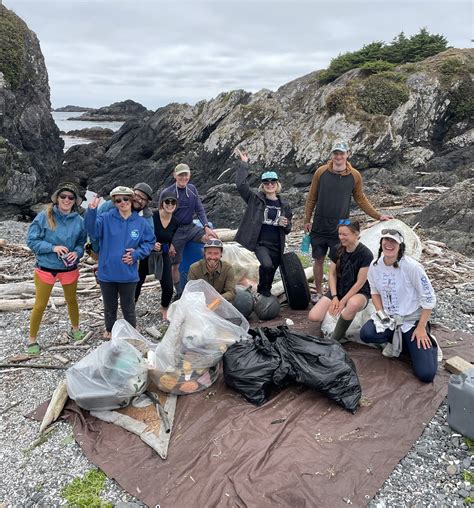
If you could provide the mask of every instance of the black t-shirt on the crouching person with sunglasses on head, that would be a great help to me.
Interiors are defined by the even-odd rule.
[[[337,251],[341,244],[337,244],[329,251],[329,259],[333,263],[337,263]],[[372,263],[374,256],[369,248],[363,243],[359,243],[354,252],[346,252],[341,254],[340,276],[337,278],[337,297],[341,299],[351,289],[357,281],[357,275],[361,268],[367,268]],[[370,298],[370,287],[368,281],[359,289],[359,293]]]

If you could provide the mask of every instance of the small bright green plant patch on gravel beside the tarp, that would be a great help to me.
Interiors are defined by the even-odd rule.
[[[98,469],[91,469],[83,478],[74,480],[64,487],[61,494],[71,506],[87,508],[109,508],[111,503],[99,497],[105,484],[105,474]]]

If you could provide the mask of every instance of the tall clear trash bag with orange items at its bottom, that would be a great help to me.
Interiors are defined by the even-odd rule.
[[[178,395],[208,388],[227,348],[247,336],[247,320],[204,280],[189,281],[168,316],[170,326],[156,347],[151,379]]]

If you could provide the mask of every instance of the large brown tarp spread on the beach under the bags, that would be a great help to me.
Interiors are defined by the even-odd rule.
[[[442,345],[462,335],[445,355],[474,360],[472,335],[436,335]],[[347,351],[363,389],[355,415],[296,386],[257,408],[220,374],[210,389],[179,397],[165,461],[72,401],[65,415],[87,457],[149,506],[365,506],[434,415],[449,374],[440,368],[423,384],[408,362],[359,344]]]

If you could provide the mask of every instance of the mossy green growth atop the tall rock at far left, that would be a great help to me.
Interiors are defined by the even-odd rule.
[[[13,90],[22,79],[26,31],[16,14],[0,5],[0,71]]]

